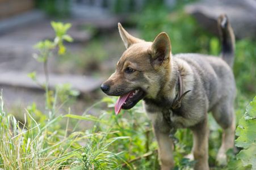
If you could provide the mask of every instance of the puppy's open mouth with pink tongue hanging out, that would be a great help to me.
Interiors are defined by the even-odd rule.
[[[144,92],[142,90],[134,90],[129,92],[124,96],[120,96],[115,104],[115,113],[116,115],[122,109],[131,109],[134,107],[142,98],[144,97]]]

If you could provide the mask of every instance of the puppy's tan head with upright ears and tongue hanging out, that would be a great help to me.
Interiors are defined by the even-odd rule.
[[[120,96],[115,111],[131,109],[144,97],[154,98],[160,91],[160,82],[170,70],[171,45],[165,32],[153,42],[145,42],[129,35],[118,24],[121,39],[127,48],[114,74],[100,87],[110,96]]]

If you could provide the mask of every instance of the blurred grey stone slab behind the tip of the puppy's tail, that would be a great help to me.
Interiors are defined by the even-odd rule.
[[[209,31],[218,35],[217,18],[228,15],[237,39],[256,36],[256,1],[216,0],[192,3],[185,7]]]

